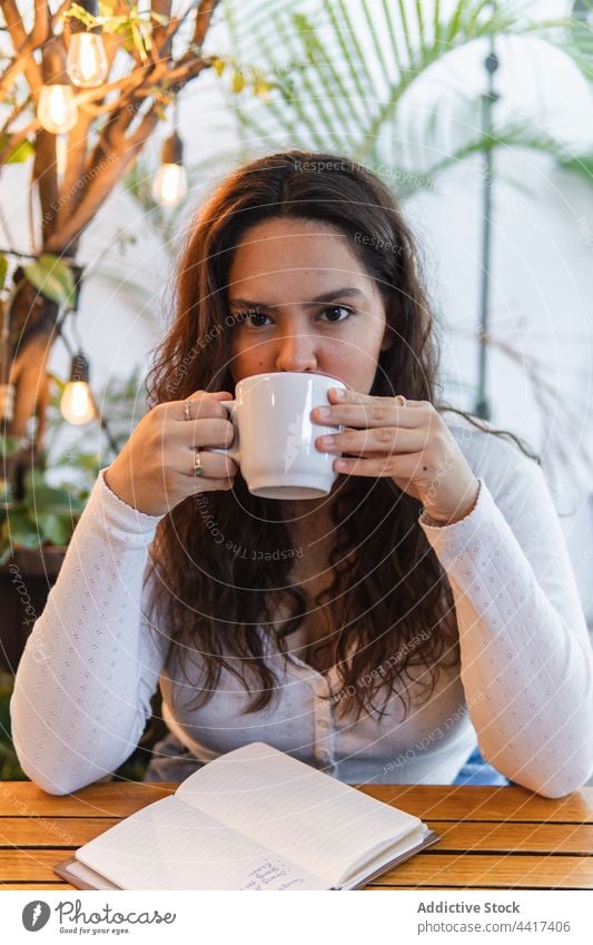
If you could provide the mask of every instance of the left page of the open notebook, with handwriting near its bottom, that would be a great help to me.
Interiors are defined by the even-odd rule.
[[[175,796],[116,824],[77,859],[123,889],[327,889],[318,876]]]

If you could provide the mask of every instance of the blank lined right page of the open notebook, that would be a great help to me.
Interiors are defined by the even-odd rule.
[[[210,761],[177,796],[330,885],[365,852],[422,825],[260,741]]]

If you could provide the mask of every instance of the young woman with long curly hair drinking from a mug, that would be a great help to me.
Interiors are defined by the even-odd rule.
[[[349,782],[451,784],[478,744],[543,795],[586,780],[593,661],[542,473],[438,404],[435,363],[414,242],[374,175],[289,151],[218,187],[151,408],[19,667],[12,734],[38,785],[119,767],[159,677],[187,770],[258,740]],[[233,440],[235,384],[280,371],[347,386],[326,405],[344,432],[317,443],[345,454],[323,500],[256,498],[205,449]]]

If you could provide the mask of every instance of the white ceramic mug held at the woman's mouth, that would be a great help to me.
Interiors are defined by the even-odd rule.
[[[330,387],[346,384],[329,374],[279,371],[244,377],[227,407],[235,427],[233,445],[208,446],[227,453],[241,471],[249,492],[265,499],[316,499],[327,495],[337,478],[334,460],[315,440],[344,426],[314,423],[310,412],[328,404]]]

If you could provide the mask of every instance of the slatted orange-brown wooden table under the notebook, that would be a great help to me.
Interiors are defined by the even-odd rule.
[[[28,781],[0,781],[0,889],[71,889],[53,874],[56,863],[175,787],[118,781],[52,797]],[[442,837],[367,888],[593,888],[593,788],[559,800],[517,787],[363,790]]]

